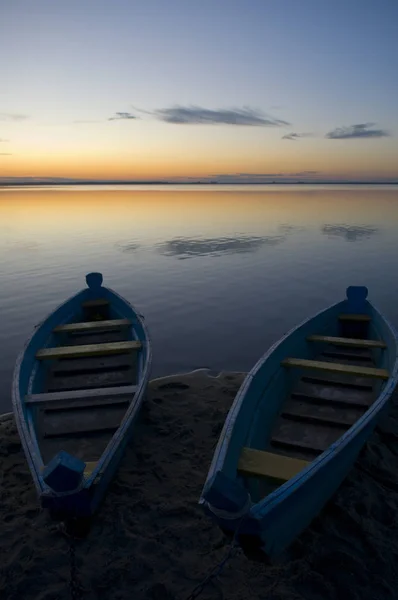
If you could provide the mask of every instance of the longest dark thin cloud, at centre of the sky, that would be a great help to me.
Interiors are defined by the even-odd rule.
[[[161,108],[153,113],[160,121],[177,125],[247,125],[281,127],[287,121],[276,119],[251,108],[211,110],[201,106],[175,106]]]

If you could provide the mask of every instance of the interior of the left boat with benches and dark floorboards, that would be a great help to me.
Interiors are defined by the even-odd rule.
[[[25,407],[33,413],[44,465],[61,450],[86,462],[89,476],[134,397],[141,342],[131,319],[106,298],[77,307],[36,352],[39,367]]]

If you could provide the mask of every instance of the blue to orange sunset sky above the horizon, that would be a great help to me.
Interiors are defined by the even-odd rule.
[[[0,0],[0,178],[398,180],[397,0]]]

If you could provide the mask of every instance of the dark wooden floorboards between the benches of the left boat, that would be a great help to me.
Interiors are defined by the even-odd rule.
[[[91,333],[63,334],[62,345],[86,345],[106,342],[128,341],[128,328],[116,331],[95,331]],[[89,390],[136,384],[137,352],[60,359],[52,363],[47,374],[43,392],[69,390]],[[128,402],[120,398],[120,403],[98,403],[90,400],[90,407],[82,402],[63,404],[62,410],[37,407],[37,431],[39,443],[46,463],[60,450],[85,460],[100,458],[114,431],[120,425]]]

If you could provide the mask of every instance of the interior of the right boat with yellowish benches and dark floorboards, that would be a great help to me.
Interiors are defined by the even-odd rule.
[[[337,335],[307,335],[312,358],[286,356],[284,397],[272,415],[257,411],[241,448],[238,477],[258,502],[336,442],[369,409],[389,378],[387,345],[369,314],[337,315]],[[260,377],[261,375],[258,375]],[[271,418],[272,416],[272,418]],[[268,423],[268,425],[267,425]],[[250,437],[250,436],[249,436]]]

